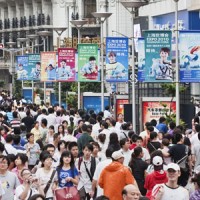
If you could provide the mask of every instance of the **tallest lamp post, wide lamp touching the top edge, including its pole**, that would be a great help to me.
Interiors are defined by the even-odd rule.
[[[134,17],[135,17],[135,9],[140,6],[146,5],[147,1],[120,1],[120,3],[128,10],[128,12],[132,16],[132,38],[134,38]],[[129,10],[131,8],[131,10]],[[132,125],[133,130],[136,131],[136,94],[135,94],[135,48],[134,48],[134,39],[132,40]]]

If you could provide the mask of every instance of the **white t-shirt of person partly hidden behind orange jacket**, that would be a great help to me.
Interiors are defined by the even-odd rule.
[[[106,159],[102,162],[100,162],[97,167],[96,167],[96,170],[94,172],[94,176],[93,176],[93,179],[95,181],[98,181],[99,180],[99,177],[101,175],[101,172],[103,171],[103,169],[105,167],[107,167],[110,163],[112,162],[112,159]],[[98,185],[97,186],[97,197],[103,195],[103,189]]]

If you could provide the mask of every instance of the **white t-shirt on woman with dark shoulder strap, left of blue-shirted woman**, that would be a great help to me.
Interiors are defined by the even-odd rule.
[[[36,177],[39,179],[40,181],[40,184],[42,186],[42,188],[44,189],[48,183],[48,181],[50,180],[51,178],[51,175],[53,173],[53,168],[48,172],[46,173],[44,171],[44,168],[39,168],[37,171],[36,171]],[[53,179],[52,179],[52,183],[47,191],[47,194],[46,194],[46,198],[50,198],[50,197],[53,197],[53,191],[52,191],[52,185],[53,183],[57,180],[57,173],[55,173]]]

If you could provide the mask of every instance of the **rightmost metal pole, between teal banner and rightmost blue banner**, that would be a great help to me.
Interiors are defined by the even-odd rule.
[[[178,0],[175,2],[175,32],[176,32],[176,125],[180,122],[180,94],[179,94],[179,62],[178,62]]]

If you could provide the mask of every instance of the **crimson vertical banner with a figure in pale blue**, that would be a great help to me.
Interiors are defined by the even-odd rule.
[[[75,81],[75,49],[58,49],[57,81]]]

